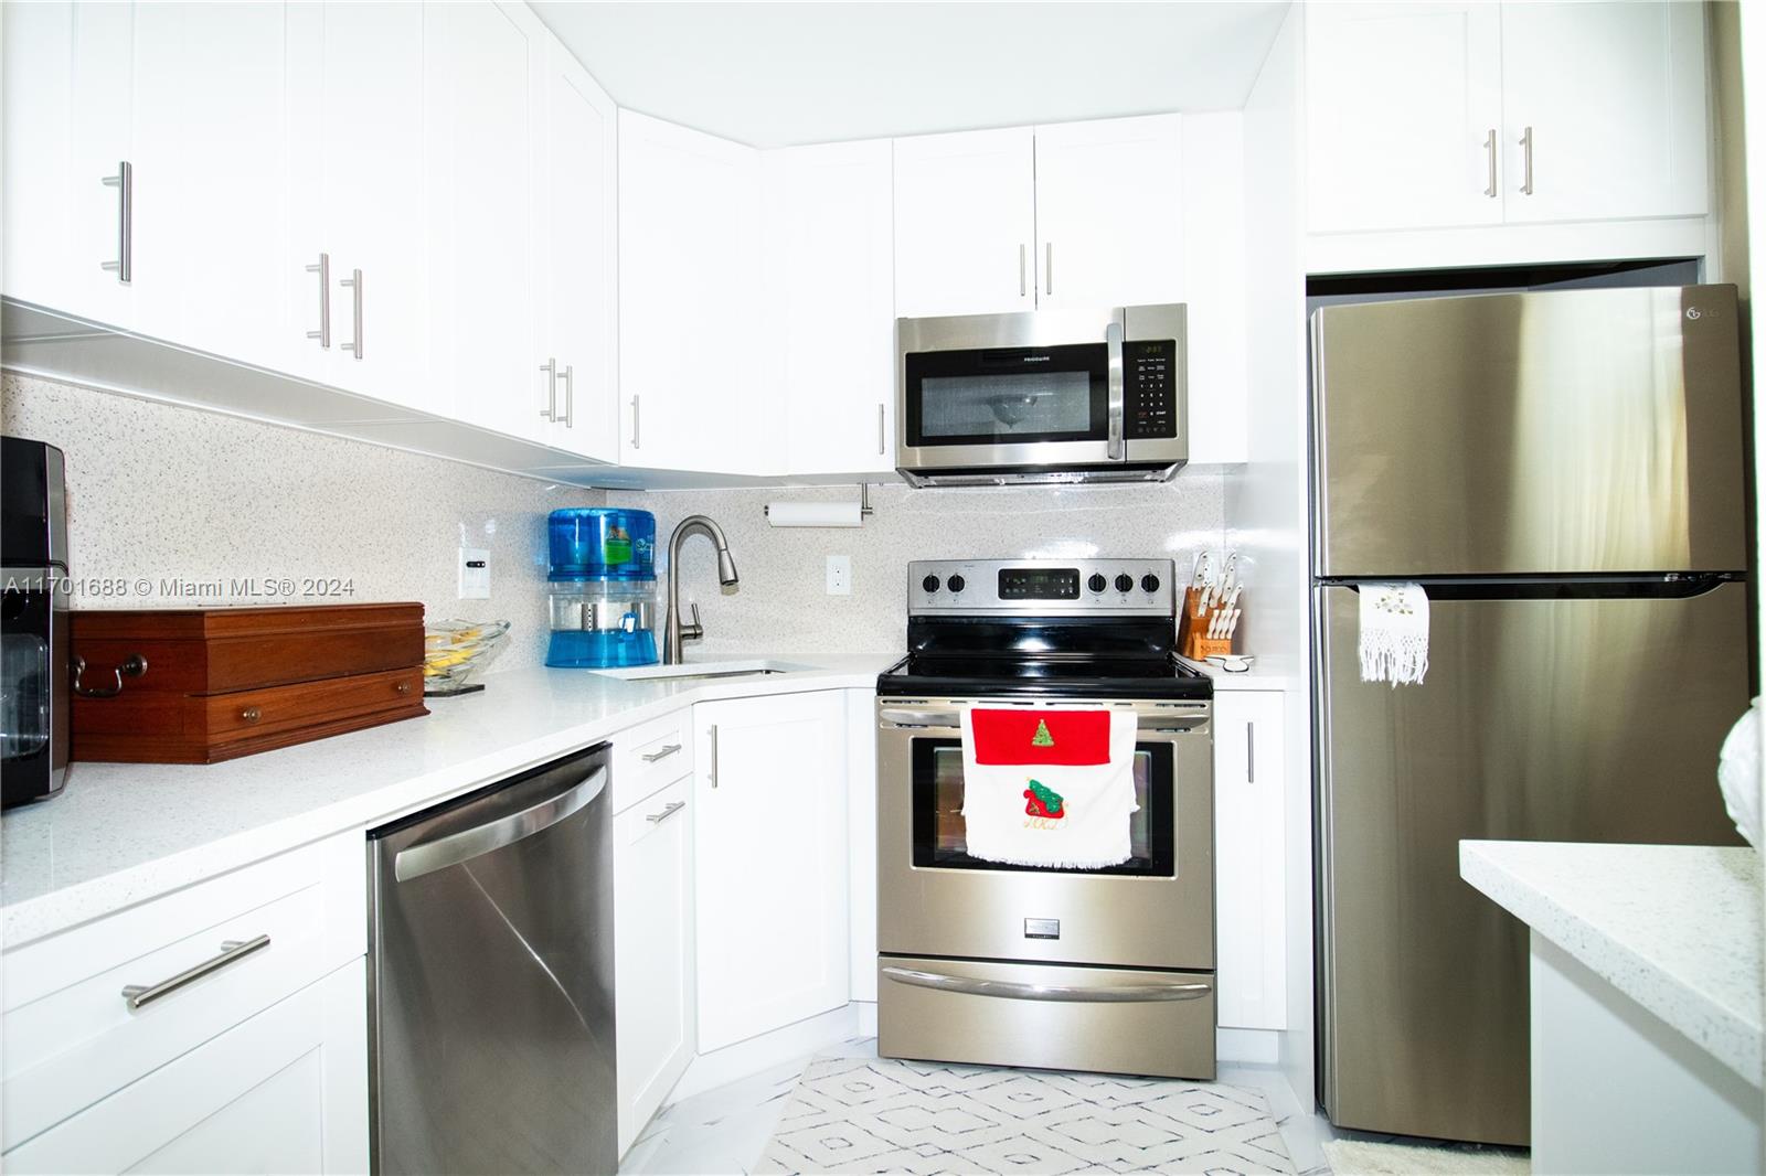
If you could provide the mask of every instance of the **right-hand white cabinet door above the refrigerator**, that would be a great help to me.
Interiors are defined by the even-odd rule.
[[[1505,4],[1510,221],[1704,215],[1704,5]]]

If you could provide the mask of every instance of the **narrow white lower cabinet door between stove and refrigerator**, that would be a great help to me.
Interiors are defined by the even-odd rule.
[[[1287,1028],[1280,690],[1215,692],[1219,1022]]]

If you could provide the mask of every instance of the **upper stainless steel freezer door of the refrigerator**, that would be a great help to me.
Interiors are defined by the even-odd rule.
[[[1741,570],[1734,286],[1312,316],[1323,577]]]

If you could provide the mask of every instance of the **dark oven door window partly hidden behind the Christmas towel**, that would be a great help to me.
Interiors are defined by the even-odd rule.
[[[1035,871],[1042,874],[1176,876],[1176,819],[1173,814],[1173,758],[1169,743],[1134,749],[1134,800],[1128,818],[1130,856],[1098,871],[1061,871],[1042,865],[1007,865],[971,858],[962,823],[962,743],[913,742],[913,863],[955,871]]]

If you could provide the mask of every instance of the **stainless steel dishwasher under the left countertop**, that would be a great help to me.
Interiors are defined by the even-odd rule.
[[[613,1172],[609,747],[369,833],[376,1172]]]

